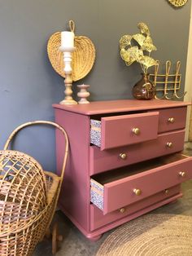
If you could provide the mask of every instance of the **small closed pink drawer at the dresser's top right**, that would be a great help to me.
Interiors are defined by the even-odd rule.
[[[158,133],[168,130],[179,130],[185,128],[187,107],[158,109],[159,129]],[[150,112],[151,113],[151,112]]]

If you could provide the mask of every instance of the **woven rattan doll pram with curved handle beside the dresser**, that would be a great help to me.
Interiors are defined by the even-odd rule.
[[[23,152],[8,150],[11,140],[26,126],[51,125],[65,138],[65,154],[60,176],[42,170],[41,165]],[[55,214],[68,157],[68,135],[55,122],[32,121],[17,127],[0,151],[0,255],[32,255],[46,235]],[[56,225],[52,253],[56,252]]]

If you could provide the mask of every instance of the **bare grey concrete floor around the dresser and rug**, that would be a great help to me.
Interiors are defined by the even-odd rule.
[[[185,154],[192,156],[192,143],[185,143]],[[174,203],[164,205],[151,213],[154,214],[185,214],[192,216],[192,180],[182,183],[184,196]],[[59,233],[63,235],[63,242],[59,243],[59,251],[56,256],[92,256],[95,255],[99,246],[111,233],[105,233],[97,242],[88,241],[76,227],[57,211],[55,218],[59,221]],[[51,241],[45,240],[37,245],[33,256],[51,256]]]

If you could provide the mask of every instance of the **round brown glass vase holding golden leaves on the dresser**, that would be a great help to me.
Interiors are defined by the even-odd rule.
[[[133,86],[133,97],[135,99],[154,99],[155,86],[149,79],[149,74],[142,73],[142,79]]]

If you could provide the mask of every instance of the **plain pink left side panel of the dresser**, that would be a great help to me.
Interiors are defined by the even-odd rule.
[[[68,162],[59,197],[61,210],[89,230],[89,117],[56,109],[55,121],[68,133]],[[64,143],[56,132],[57,170],[61,170]]]

